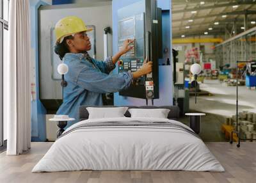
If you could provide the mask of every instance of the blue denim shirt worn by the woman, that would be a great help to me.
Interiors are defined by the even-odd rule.
[[[115,68],[111,57],[106,61],[92,59],[92,64],[83,53],[67,53],[63,62],[68,65],[64,76],[68,84],[57,115],[76,119],[68,122],[67,127],[78,122],[80,106],[102,106],[102,93],[118,92],[132,83],[131,72],[109,74]]]

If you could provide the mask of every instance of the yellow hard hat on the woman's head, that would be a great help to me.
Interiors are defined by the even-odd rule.
[[[55,25],[56,42],[60,42],[61,38],[70,36],[82,31],[92,31],[92,28],[86,28],[83,20],[79,17],[65,17]]]

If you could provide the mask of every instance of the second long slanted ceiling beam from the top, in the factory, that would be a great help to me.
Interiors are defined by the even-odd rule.
[[[250,15],[250,14],[256,14],[255,10],[244,10],[244,11],[233,11],[233,12],[225,12],[225,13],[218,13],[218,14],[212,14],[212,15],[205,15],[205,16],[200,16],[200,17],[189,17],[188,19],[176,19],[172,20],[172,22],[180,22],[184,20],[190,20],[190,19],[205,19],[209,17],[220,17],[222,15]]]

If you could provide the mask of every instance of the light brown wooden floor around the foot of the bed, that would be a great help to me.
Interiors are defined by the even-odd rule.
[[[31,150],[18,156],[0,154],[0,182],[256,182],[256,143],[241,148],[227,142],[206,143],[224,166],[225,172],[195,171],[65,171],[31,173],[52,143],[32,143]]]

